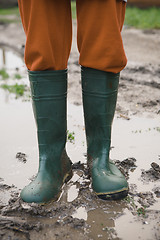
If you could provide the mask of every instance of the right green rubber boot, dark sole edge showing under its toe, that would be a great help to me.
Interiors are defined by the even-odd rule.
[[[102,199],[121,199],[128,193],[128,184],[123,174],[109,159],[119,73],[85,67],[82,67],[81,73],[88,167],[92,188]]]

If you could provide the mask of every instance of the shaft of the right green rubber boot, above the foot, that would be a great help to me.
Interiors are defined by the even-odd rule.
[[[94,158],[99,155],[99,152],[107,154],[109,158],[118,85],[119,73],[82,67],[82,92],[88,154]]]

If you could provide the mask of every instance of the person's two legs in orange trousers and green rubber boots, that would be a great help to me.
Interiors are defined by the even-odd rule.
[[[72,41],[70,0],[18,0],[26,34],[25,63],[37,125],[39,170],[21,192],[26,202],[56,200],[72,177],[65,150],[67,64]],[[126,1],[77,0],[77,43],[88,168],[94,192],[102,199],[121,199],[128,184],[109,159],[119,72],[125,67],[121,30]]]

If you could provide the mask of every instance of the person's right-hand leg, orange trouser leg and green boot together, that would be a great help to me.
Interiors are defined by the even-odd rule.
[[[78,47],[87,136],[88,167],[94,192],[103,199],[127,195],[128,184],[109,159],[119,71],[126,65],[121,29],[125,3],[77,0]]]

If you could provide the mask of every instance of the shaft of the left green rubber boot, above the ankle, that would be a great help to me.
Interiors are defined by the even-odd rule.
[[[29,71],[40,148],[66,139],[67,70]]]

